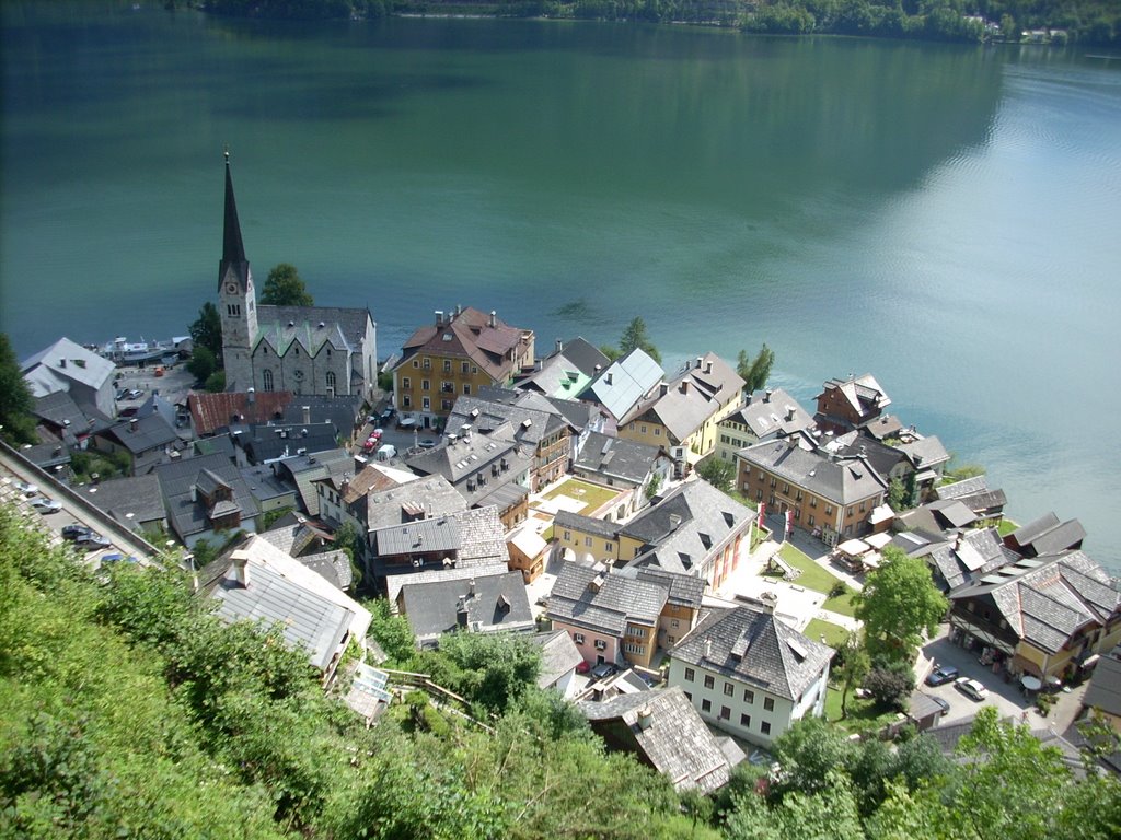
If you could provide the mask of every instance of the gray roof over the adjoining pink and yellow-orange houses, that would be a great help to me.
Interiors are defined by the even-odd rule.
[[[667,599],[668,587],[605,572],[602,567],[566,562],[549,595],[547,614],[620,636],[628,620],[655,624]]]

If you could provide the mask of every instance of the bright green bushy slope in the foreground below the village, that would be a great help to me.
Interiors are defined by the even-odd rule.
[[[536,688],[531,645],[464,635],[420,654],[383,604],[393,664],[466,706],[414,691],[368,729],[279,634],[220,623],[179,572],[92,572],[68,552],[0,508],[2,838],[1121,836],[1117,778],[1076,782],[992,709],[960,760],[809,720],[769,783],[743,763],[715,799],[678,796]]]

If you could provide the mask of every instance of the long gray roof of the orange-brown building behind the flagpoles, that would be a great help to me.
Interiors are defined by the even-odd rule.
[[[807,452],[782,441],[756,444],[736,456],[842,506],[870,498],[888,486],[863,458],[831,460],[821,452]]]

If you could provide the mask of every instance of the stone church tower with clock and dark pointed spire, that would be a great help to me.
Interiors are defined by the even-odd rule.
[[[225,152],[225,222],[222,261],[217,268],[217,309],[222,317],[222,356],[225,390],[245,391],[253,386],[253,343],[257,339],[257,292],[245,259],[233,197],[230,152]]]

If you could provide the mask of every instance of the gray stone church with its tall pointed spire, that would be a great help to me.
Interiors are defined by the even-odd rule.
[[[378,384],[378,343],[369,309],[257,304],[229,152],[217,279],[226,391],[371,399]]]

